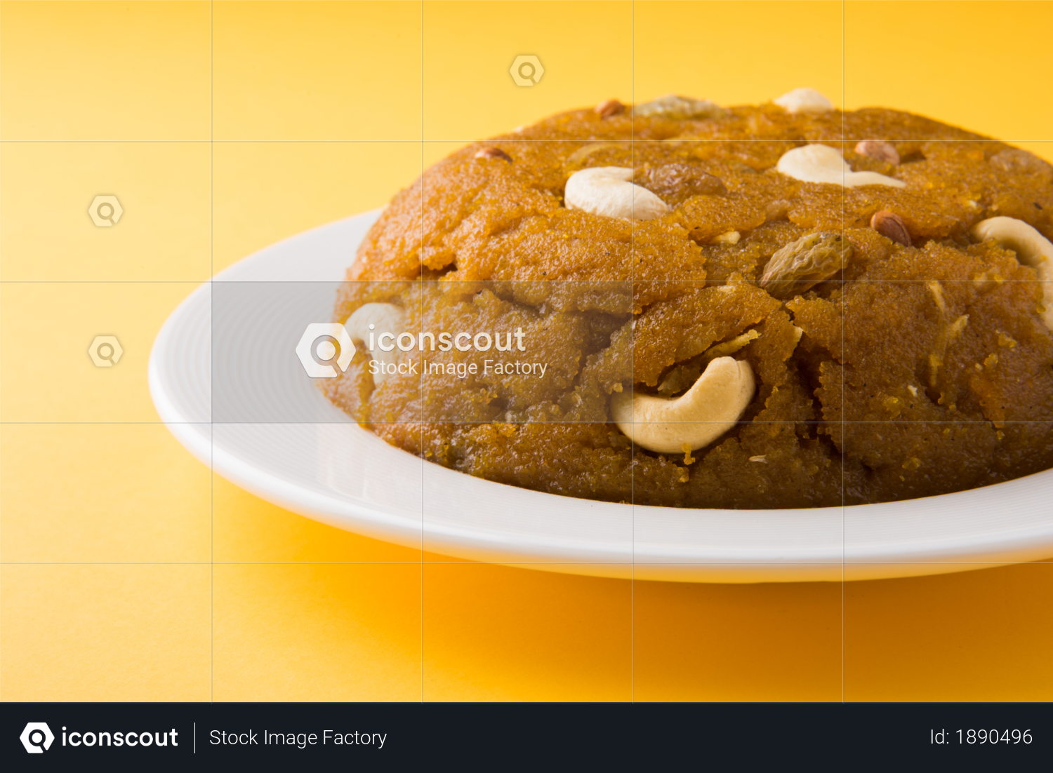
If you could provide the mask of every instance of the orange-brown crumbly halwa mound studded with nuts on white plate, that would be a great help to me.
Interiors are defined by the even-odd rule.
[[[872,138],[899,163],[854,151]],[[808,142],[906,186],[846,188],[775,170]],[[476,158],[485,147],[508,158]],[[670,164],[677,174],[659,172]],[[669,213],[567,208],[568,178],[593,166],[634,169]],[[879,210],[902,219],[912,246],[870,227]],[[415,351],[417,374],[375,386],[359,347],[322,389],[429,462],[593,500],[799,508],[1018,477],[1053,467],[1053,338],[1034,270],[970,236],[995,216],[1053,237],[1053,167],[906,113],[565,113],[458,150],[399,192],[335,310],[343,322],[364,303],[393,303],[411,332],[521,329],[519,359],[545,363],[545,377],[482,374],[484,360],[511,354],[453,349]],[[784,300],[758,287],[776,250],[816,230],[851,243],[842,271]],[[716,241],[730,231],[737,242]],[[743,333],[731,355],[750,363],[756,393],[710,446],[655,453],[612,423],[612,394],[680,394],[707,350]],[[425,360],[480,372],[421,377]]]

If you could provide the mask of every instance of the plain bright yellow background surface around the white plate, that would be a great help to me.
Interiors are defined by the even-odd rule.
[[[146,387],[212,272],[569,107],[808,85],[1053,159],[1050,29],[1048,2],[0,3],[0,698],[1053,698],[1053,563],[722,586],[421,554],[213,475]]]

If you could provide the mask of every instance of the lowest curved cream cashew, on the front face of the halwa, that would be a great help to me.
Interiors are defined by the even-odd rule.
[[[657,453],[682,453],[702,448],[735,426],[750,401],[755,383],[750,364],[719,357],[679,398],[619,392],[611,401],[618,429],[633,443]]]

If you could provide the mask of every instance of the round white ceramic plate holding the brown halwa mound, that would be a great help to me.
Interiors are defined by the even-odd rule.
[[[377,216],[316,228],[231,266],[195,290],[154,343],[150,388],[161,418],[195,456],[257,496],[340,529],[445,555],[641,579],[862,579],[1053,555],[1053,470],[883,505],[686,510],[528,491],[389,446],[322,396],[295,360],[295,344],[280,347],[280,367],[265,379],[253,359],[274,350],[264,344],[281,331],[330,321],[333,283]],[[291,282],[302,284],[265,308],[252,291],[239,290]],[[237,351],[214,345],[213,321],[221,317],[253,320]],[[233,415],[230,405],[218,411],[214,349],[223,400],[245,396],[292,419],[254,423]]]

